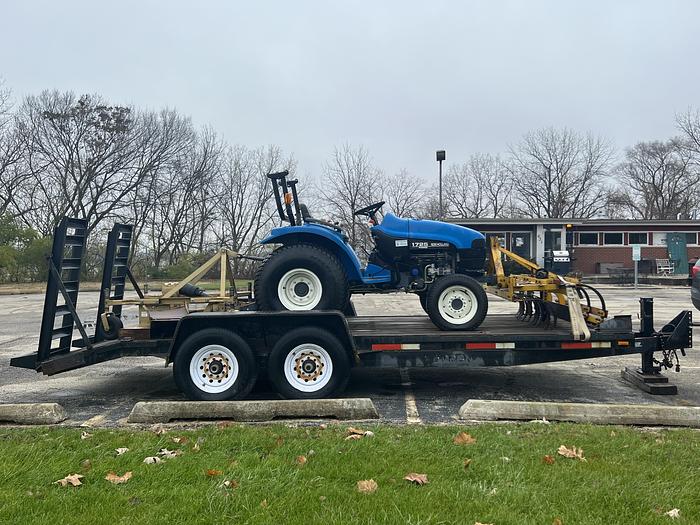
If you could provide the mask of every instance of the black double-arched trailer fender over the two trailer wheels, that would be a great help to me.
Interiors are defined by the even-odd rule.
[[[359,362],[350,328],[341,312],[280,311],[280,312],[195,312],[178,322],[173,334],[165,366],[175,359],[182,342],[190,335],[207,328],[229,330],[242,337],[256,357],[265,357],[277,340],[300,326],[316,327],[333,334],[346,348],[352,363]]]

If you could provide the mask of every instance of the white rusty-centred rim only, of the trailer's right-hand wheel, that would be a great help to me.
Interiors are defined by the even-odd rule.
[[[333,361],[323,347],[304,343],[295,346],[287,354],[284,377],[300,392],[318,392],[333,377]]]

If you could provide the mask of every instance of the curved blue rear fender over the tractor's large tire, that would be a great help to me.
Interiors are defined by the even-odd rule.
[[[345,270],[348,282],[361,283],[360,259],[352,247],[335,232],[313,224],[274,228],[260,244],[312,244],[321,246],[335,255]]]

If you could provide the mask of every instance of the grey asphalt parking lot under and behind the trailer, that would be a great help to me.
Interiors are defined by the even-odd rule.
[[[679,310],[692,309],[686,287],[599,289],[612,315],[632,314],[635,320],[639,297],[653,297],[657,327]],[[78,311],[84,322],[94,322],[97,298],[95,292],[80,295]],[[515,314],[515,305],[490,301],[491,313]],[[359,315],[425,315],[412,295],[357,296],[353,302]],[[184,400],[172,369],[157,358],[122,358],[52,377],[10,367],[11,357],[36,350],[42,304],[41,294],[0,296],[0,402],[57,402],[69,414],[67,424],[102,426],[123,423],[137,401]],[[131,310],[125,309],[127,326],[137,322],[137,312]],[[463,370],[357,368],[344,397],[371,398],[381,418],[395,423],[453,422],[469,399],[700,406],[698,329],[694,337],[695,348],[681,358],[681,372],[666,372],[678,385],[677,396],[652,396],[623,381],[620,370],[639,364],[639,356],[629,356]],[[264,384],[253,393],[255,399],[274,397]]]

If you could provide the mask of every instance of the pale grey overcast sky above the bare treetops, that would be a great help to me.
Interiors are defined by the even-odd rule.
[[[111,7],[106,7],[111,4]],[[317,175],[335,145],[387,172],[569,126],[619,149],[700,106],[700,2],[3,0],[0,77],[176,107]]]

